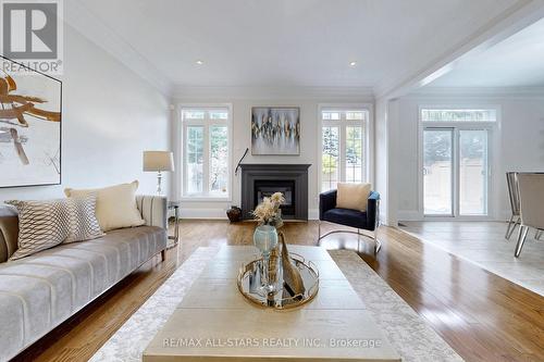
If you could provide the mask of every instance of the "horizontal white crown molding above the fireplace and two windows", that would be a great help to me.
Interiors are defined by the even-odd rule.
[[[354,99],[373,101],[372,87],[258,87],[258,86],[183,86],[173,87],[175,99]]]

